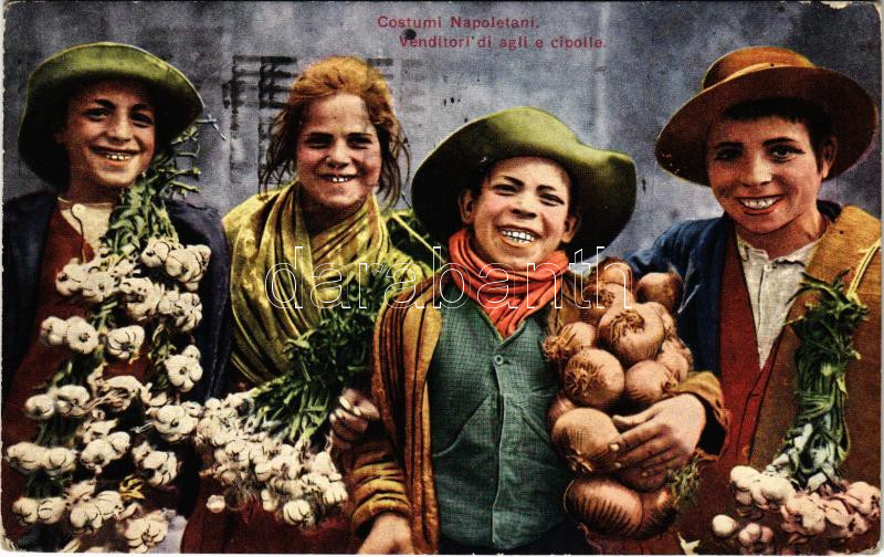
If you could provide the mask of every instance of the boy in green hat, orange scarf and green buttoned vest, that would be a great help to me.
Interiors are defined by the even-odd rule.
[[[579,317],[568,258],[622,229],[633,164],[519,107],[442,141],[412,195],[452,267],[400,296],[376,327],[372,395],[386,441],[369,435],[352,474],[361,550],[585,553],[561,507],[571,474],[545,419],[559,385],[539,346]],[[671,399],[696,414],[665,440],[688,452],[717,401],[707,376]]]

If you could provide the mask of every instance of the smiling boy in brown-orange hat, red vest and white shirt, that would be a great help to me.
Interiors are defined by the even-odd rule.
[[[678,223],[629,258],[639,274],[672,266],[684,277],[678,330],[697,367],[719,376],[732,412],[703,503],[678,523],[686,539],[709,539],[712,515],[733,505],[729,470],[764,469],[796,418],[799,339],[785,324],[804,313],[809,297],[793,298],[802,273],[832,282],[848,270],[869,308],[853,336],[861,359],[846,369],[843,473],[880,482],[881,222],[818,200],[823,180],[867,153],[876,125],[874,102],[850,77],[787,49],[753,46],[716,61],[657,138],[661,166],[711,187],[725,211]]]

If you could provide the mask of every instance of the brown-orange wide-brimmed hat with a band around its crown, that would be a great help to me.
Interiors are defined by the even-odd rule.
[[[749,46],[725,54],[703,76],[702,91],[682,106],[660,133],[656,159],[670,172],[708,186],[706,135],[738,104],[798,98],[831,119],[838,154],[829,178],[863,157],[877,127],[877,109],[863,87],[838,72],[817,67],[801,54],[778,46]]]

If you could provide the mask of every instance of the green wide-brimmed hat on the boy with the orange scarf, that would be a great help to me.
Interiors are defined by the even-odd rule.
[[[522,106],[465,124],[440,143],[421,162],[411,183],[414,213],[441,242],[463,228],[457,198],[476,186],[480,168],[514,157],[544,157],[558,162],[571,179],[571,213],[580,227],[566,245],[569,256],[583,249],[587,258],[623,229],[635,206],[635,166],[617,151],[580,143],[561,120]]]

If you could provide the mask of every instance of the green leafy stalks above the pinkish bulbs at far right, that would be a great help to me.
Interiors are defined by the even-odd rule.
[[[794,358],[799,412],[768,471],[811,491],[840,482],[840,466],[850,452],[845,370],[860,359],[853,333],[869,309],[853,287],[845,288],[846,273],[842,271],[831,284],[804,274],[796,293],[813,292],[819,303],[808,303],[804,315],[791,323],[801,340]]]

